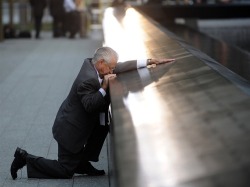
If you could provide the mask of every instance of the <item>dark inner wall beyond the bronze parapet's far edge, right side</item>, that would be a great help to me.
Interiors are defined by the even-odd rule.
[[[167,25],[169,31],[218,63],[250,81],[250,53],[235,45],[208,37],[204,33],[181,25]],[[247,38],[246,38],[247,40]]]

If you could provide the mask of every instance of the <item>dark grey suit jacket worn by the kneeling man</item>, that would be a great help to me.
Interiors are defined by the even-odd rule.
[[[136,66],[136,61],[118,63],[114,73],[133,70]],[[99,114],[108,112],[109,94],[103,97],[98,91],[100,87],[91,59],[86,59],[52,128],[58,144],[72,153],[84,148],[95,126],[100,125]]]

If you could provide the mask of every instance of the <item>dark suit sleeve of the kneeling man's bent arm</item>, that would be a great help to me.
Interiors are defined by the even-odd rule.
[[[77,87],[77,95],[84,109],[89,113],[102,112],[106,108],[107,103],[99,88],[100,83],[95,79],[84,81]]]

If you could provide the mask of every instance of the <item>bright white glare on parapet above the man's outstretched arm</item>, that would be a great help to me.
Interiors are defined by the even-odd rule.
[[[120,23],[114,16],[113,8],[105,11],[103,18],[103,24],[107,25],[104,29],[105,45],[118,52],[119,61],[147,58],[138,16],[133,8],[128,8],[126,16]]]

